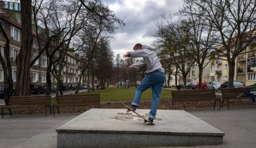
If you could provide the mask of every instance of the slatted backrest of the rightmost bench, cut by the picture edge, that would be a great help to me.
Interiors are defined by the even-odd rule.
[[[246,93],[251,87],[222,88],[222,99],[239,99],[237,96]]]

